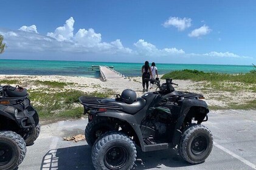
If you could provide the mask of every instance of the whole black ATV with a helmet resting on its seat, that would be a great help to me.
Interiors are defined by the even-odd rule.
[[[131,169],[136,160],[136,147],[156,151],[178,146],[185,161],[202,163],[213,147],[208,120],[209,109],[202,95],[178,92],[170,79],[159,88],[136,98],[126,89],[116,99],[80,97],[89,123],[86,141],[92,146],[95,169]],[[175,84],[178,85],[178,84]]]

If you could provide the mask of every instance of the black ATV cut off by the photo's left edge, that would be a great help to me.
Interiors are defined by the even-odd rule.
[[[0,169],[15,169],[40,134],[28,96],[22,87],[0,86]]]

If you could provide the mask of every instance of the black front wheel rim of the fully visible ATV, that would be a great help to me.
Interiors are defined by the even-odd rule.
[[[194,155],[200,156],[204,154],[204,151],[207,149],[207,139],[206,137],[196,137],[191,143],[191,151]]]

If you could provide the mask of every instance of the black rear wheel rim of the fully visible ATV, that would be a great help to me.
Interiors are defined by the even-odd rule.
[[[113,146],[105,154],[105,165],[109,169],[120,169],[125,165],[127,157],[128,152],[123,146]]]

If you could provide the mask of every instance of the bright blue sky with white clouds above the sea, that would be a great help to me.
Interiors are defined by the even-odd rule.
[[[256,63],[256,1],[1,1],[0,58]]]

